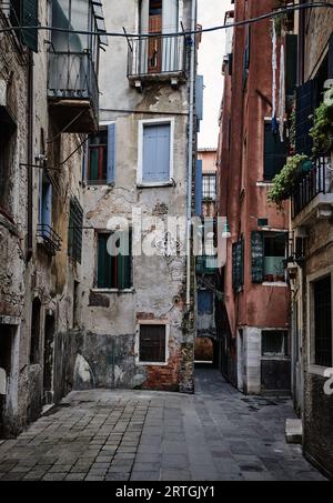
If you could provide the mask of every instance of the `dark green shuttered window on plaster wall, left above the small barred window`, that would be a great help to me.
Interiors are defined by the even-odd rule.
[[[132,256],[131,256],[131,232],[118,232],[115,240],[114,232],[98,234],[98,278],[99,289],[125,290],[132,286]],[[114,238],[117,249],[123,248],[119,254],[110,254],[109,250]],[[108,247],[109,242],[109,247]],[[109,250],[108,250],[109,248]],[[115,250],[115,249],[114,249]]]

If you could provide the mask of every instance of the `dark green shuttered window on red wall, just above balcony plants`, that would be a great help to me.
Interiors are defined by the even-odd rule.
[[[286,161],[286,145],[280,134],[272,131],[271,122],[264,124],[264,180],[271,181]]]

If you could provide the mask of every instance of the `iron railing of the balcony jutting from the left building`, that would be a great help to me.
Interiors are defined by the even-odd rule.
[[[98,112],[98,79],[89,52],[49,52],[48,95],[90,100]]]

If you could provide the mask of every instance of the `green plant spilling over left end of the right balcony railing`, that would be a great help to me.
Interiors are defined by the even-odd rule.
[[[305,161],[309,161],[307,155],[299,153],[287,158],[285,165],[273,179],[273,187],[268,193],[270,202],[281,208],[282,202],[290,198]]]

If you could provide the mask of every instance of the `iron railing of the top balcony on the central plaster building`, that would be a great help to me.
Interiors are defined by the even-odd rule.
[[[129,40],[128,78],[184,72],[186,40],[184,36]]]

